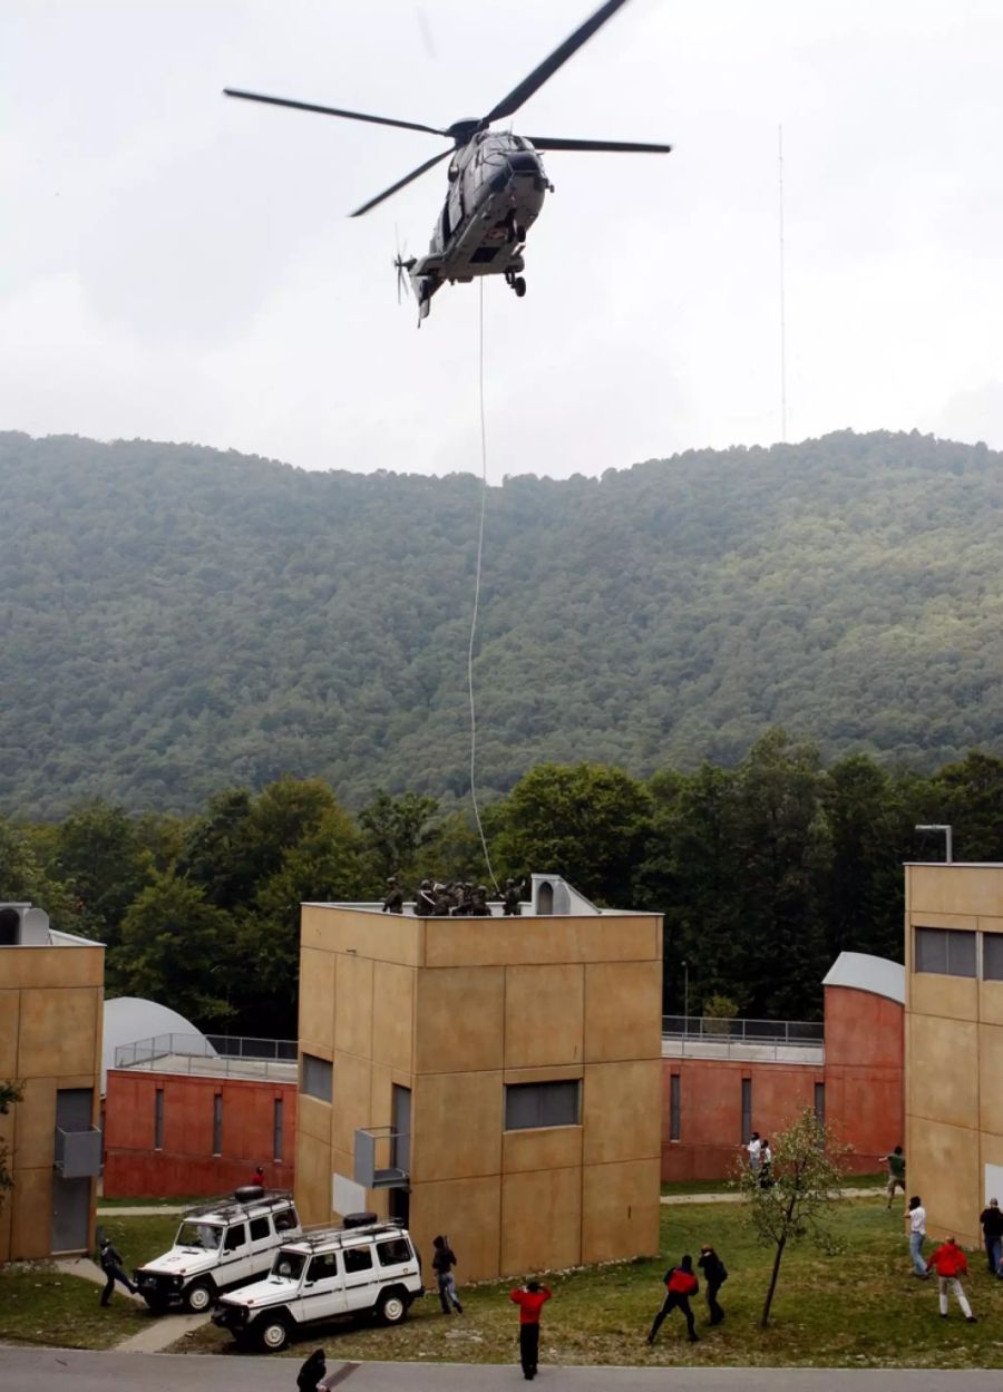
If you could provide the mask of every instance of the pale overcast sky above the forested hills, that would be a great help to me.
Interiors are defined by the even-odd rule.
[[[480,472],[479,288],[416,330],[437,138],[598,0],[4,0],[0,429]],[[1003,4],[632,0],[512,121],[551,153],[529,294],[484,283],[490,476],[853,426],[1003,448]]]

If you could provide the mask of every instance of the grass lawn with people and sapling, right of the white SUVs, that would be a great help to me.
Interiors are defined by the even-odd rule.
[[[936,1283],[910,1275],[901,1208],[888,1212],[872,1200],[839,1205],[846,1250],[825,1257],[811,1247],[785,1256],[771,1327],[760,1329],[772,1251],[746,1229],[739,1204],[662,1208],[662,1256],[548,1278],[554,1300],[544,1311],[545,1363],[659,1366],[804,1367],[1002,1367],[1003,1282],[990,1279],[981,1251],[971,1254],[968,1297],[979,1322],[968,1325],[957,1307],[938,1315]],[[665,1267],[711,1242],[729,1279],[721,1293],[728,1318],[707,1327],[703,1292],[694,1302],[698,1343],[686,1342],[673,1313],[658,1343],[644,1342],[661,1306]],[[460,1251],[462,1256],[462,1251]],[[460,1268],[462,1276],[462,1268]],[[288,1350],[292,1357],[324,1343],[334,1359],[410,1359],[504,1363],[516,1359],[516,1311],[508,1300],[515,1282],[465,1290],[465,1314],[447,1320],[426,1296],[396,1329],[332,1322],[314,1328]],[[213,1325],[181,1340],[175,1352],[234,1354],[230,1335]],[[263,1354],[262,1354],[263,1356]]]

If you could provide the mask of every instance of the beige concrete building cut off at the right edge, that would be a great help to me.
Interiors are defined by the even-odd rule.
[[[933,1237],[1003,1203],[1003,864],[906,866],[907,1185]]]

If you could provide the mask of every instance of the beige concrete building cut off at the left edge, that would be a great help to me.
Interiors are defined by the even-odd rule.
[[[0,1116],[14,1189],[0,1208],[0,1261],[93,1246],[100,1172],[104,948],[0,903],[0,1079],[24,1101]]]

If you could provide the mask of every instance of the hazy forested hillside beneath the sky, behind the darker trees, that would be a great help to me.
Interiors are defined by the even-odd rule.
[[[406,461],[402,461],[406,466]],[[467,785],[480,484],[0,434],[0,810]],[[533,766],[932,768],[1003,729],[1003,455],[839,433],[491,489],[487,792]]]

